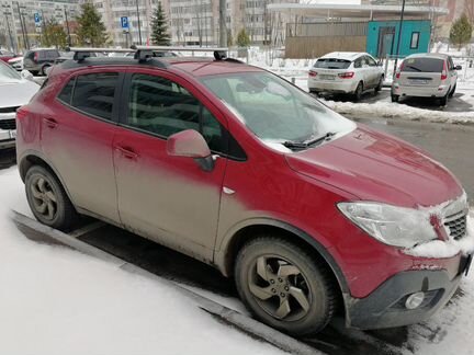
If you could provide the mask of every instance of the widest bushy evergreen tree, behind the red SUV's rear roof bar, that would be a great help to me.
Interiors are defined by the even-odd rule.
[[[77,18],[77,37],[82,46],[100,47],[108,42],[105,25],[94,5],[86,2],[81,5],[81,15]]]

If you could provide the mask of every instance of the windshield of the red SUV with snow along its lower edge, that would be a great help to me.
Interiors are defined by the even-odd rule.
[[[266,71],[204,77],[202,81],[266,142],[306,142],[356,128],[315,98]]]

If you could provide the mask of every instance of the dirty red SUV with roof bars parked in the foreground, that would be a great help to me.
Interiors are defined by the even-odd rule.
[[[415,323],[450,299],[474,236],[444,167],[263,69],[151,49],[76,56],[19,110],[41,222],[93,216],[192,255],[300,336],[336,313],[359,329]]]

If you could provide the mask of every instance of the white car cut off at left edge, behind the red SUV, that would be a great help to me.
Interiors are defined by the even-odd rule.
[[[0,149],[14,147],[16,108],[29,103],[38,89],[38,84],[0,61]]]

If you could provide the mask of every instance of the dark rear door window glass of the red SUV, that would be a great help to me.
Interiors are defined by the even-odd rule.
[[[59,100],[67,103],[71,96],[72,107],[100,118],[112,119],[119,73],[90,73],[77,77],[75,84],[71,81],[63,89]]]

